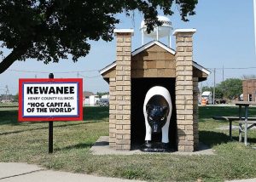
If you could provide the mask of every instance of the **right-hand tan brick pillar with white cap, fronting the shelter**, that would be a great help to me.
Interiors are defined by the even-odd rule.
[[[195,29],[179,29],[176,36],[176,108],[177,149],[195,151],[198,145],[197,117],[194,104],[193,39]]]

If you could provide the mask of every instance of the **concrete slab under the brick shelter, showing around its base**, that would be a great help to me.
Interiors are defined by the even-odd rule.
[[[93,155],[134,155],[134,154],[154,154],[155,152],[143,152],[140,150],[132,151],[116,151],[113,148],[109,147],[108,136],[102,136],[97,141],[96,144],[90,148],[90,151]],[[200,143],[199,151],[195,152],[171,152],[171,155],[214,155],[214,152],[211,148],[207,147]]]

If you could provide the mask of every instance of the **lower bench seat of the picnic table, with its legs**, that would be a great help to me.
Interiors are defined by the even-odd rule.
[[[244,141],[247,144],[247,130],[253,127],[256,127],[256,117],[247,117],[247,121],[245,121],[245,117],[212,117],[214,120],[224,120],[230,122],[230,139],[232,139],[232,122],[239,123],[239,141],[241,142],[241,133],[244,133]],[[244,124],[244,129],[242,129],[242,124]],[[251,124],[247,126],[247,124]]]

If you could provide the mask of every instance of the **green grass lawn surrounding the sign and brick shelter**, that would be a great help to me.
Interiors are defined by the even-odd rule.
[[[250,116],[256,107],[250,107]],[[48,154],[48,122],[17,122],[17,110],[0,111],[0,162],[27,162],[75,173],[91,173],[149,181],[224,181],[256,178],[256,130],[249,130],[249,147],[237,142],[238,131],[219,130],[228,122],[212,116],[236,116],[236,107],[199,109],[200,141],[215,151],[212,156],[143,154],[93,156],[90,147],[108,135],[108,108],[85,107],[83,122],[54,122],[54,153]],[[256,145],[255,145],[256,146]]]

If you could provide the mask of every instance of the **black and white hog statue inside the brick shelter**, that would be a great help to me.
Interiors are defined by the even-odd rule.
[[[148,90],[143,104],[146,136],[142,151],[165,152],[169,150],[169,125],[172,116],[172,100],[169,91],[160,86]],[[152,141],[152,134],[162,132],[161,142]]]

